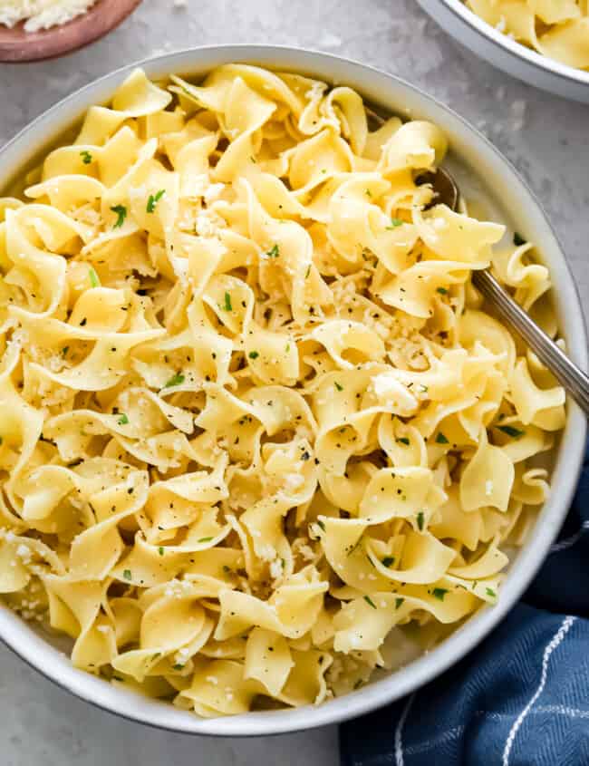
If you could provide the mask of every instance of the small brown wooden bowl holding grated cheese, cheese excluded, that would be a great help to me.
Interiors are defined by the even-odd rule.
[[[12,29],[0,24],[0,62],[51,59],[93,43],[121,24],[141,0],[98,0],[68,24],[39,32],[24,32],[24,22]]]

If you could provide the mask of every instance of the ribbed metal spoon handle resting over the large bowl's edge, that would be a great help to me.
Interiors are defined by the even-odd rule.
[[[507,325],[521,335],[540,362],[546,365],[556,380],[575,399],[585,415],[589,416],[589,377],[583,370],[571,362],[552,338],[530,319],[524,309],[517,305],[487,269],[474,271],[472,281],[489,303],[497,308],[497,312],[505,319]]]

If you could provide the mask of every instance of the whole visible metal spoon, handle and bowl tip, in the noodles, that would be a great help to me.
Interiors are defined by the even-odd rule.
[[[447,170],[421,173],[418,183],[429,183],[434,190],[433,204],[443,203],[457,210],[460,191]],[[541,330],[521,306],[499,285],[487,268],[472,272],[474,286],[495,306],[506,324],[520,335],[540,362],[554,374],[556,380],[571,394],[585,415],[589,416],[589,377]]]

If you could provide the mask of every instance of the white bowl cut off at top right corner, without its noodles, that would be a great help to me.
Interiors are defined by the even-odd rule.
[[[497,69],[557,96],[589,103],[589,72],[517,43],[474,14],[463,0],[418,0],[418,3],[448,34]]]

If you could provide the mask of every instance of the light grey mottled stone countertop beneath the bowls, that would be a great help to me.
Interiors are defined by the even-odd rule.
[[[179,4],[182,5],[182,4]],[[0,144],[115,67],[176,48],[291,44],[341,53],[414,82],[478,126],[546,208],[589,298],[589,106],[510,79],[451,40],[415,0],[144,0],[117,30],[61,59],[0,64]],[[0,648],[3,766],[334,766],[329,728],[230,740],[159,732],[101,713]]]

